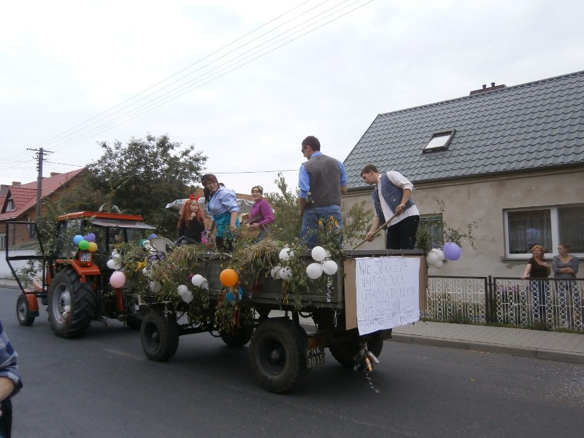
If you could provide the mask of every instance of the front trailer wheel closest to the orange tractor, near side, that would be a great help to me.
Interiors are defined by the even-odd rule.
[[[144,354],[151,361],[168,361],[178,349],[178,334],[176,321],[169,321],[159,312],[149,313],[140,329]]]

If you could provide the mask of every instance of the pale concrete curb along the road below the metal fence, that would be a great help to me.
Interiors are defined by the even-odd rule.
[[[557,361],[577,363],[584,365],[584,354],[576,352],[561,352],[557,350],[544,350],[542,348],[520,347],[517,345],[503,345],[499,343],[464,341],[461,339],[445,339],[415,334],[394,333],[393,341],[403,343],[415,343],[432,345],[433,347],[458,348],[459,350],[471,350],[485,353],[509,354],[510,356],[522,356],[538,358],[545,361]]]

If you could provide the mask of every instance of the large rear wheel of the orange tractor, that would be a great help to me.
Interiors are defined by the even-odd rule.
[[[58,272],[49,288],[49,324],[57,336],[80,337],[91,324],[97,297],[91,284],[81,282],[77,273],[70,268]],[[65,313],[65,306],[70,306]]]

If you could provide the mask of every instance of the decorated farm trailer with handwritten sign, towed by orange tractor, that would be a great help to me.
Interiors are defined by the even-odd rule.
[[[315,263],[311,252],[300,258],[306,267]],[[149,304],[141,327],[142,348],[149,359],[168,361],[181,336],[210,332],[233,347],[250,342],[250,362],[259,385],[289,393],[308,370],[326,361],[326,349],[341,365],[370,372],[391,329],[417,321],[426,306],[426,257],[418,250],[345,251],[334,260],[337,269],[330,269],[329,263],[328,271],[334,273],[326,281],[318,286],[309,280],[304,291],[287,289],[289,280],[274,278],[267,269],[254,273],[247,286],[240,282],[226,287],[221,276],[228,264],[225,254],[202,254],[193,272],[206,281],[194,288],[196,296],[179,286],[191,303],[199,300],[196,315],[193,304],[184,300]],[[202,302],[207,302],[206,308]],[[226,303],[240,312],[232,330],[217,324],[217,308]],[[207,315],[202,315],[202,308]],[[278,317],[271,317],[272,311],[279,311]],[[252,317],[243,320],[245,312]],[[315,330],[305,330],[301,322],[307,320]]]

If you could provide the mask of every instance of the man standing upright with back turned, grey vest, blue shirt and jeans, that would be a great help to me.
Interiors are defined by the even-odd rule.
[[[304,138],[302,154],[308,161],[300,166],[298,177],[302,216],[300,239],[313,248],[317,244],[319,219],[326,221],[332,216],[339,223],[339,230],[343,226],[341,194],[347,193],[347,175],[342,162],[322,154],[315,136]]]

